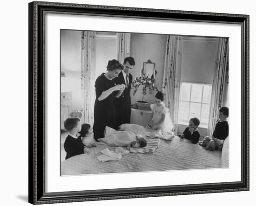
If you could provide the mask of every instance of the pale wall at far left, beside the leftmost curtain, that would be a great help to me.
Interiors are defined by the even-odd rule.
[[[72,108],[81,109],[81,31],[61,30],[61,92],[72,92]]]

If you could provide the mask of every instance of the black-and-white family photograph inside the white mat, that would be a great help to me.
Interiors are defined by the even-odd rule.
[[[229,38],[60,30],[61,176],[229,167]]]

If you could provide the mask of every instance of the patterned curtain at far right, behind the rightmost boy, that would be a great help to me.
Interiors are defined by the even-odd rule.
[[[229,44],[228,39],[219,39],[216,67],[214,69],[208,135],[212,136],[219,109],[229,102]]]

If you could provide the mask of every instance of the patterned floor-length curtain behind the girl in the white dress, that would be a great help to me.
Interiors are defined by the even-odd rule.
[[[165,106],[170,110],[174,133],[178,133],[178,110],[181,82],[182,37],[168,35],[165,52],[162,91]]]

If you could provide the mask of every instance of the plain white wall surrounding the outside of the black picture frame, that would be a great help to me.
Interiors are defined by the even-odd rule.
[[[43,0],[46,1],[46,0]],[[256,103],[256,72],[255,57],[256,41],[253,40],[252,31],[256,31],[256,6],[253,1],[243,0],[236,2],[231,0],[215,0],[209,4],[200,0],[180,0],[180,1],[144,1],[129,0],[54,0],[56,2],[73,2],[81,4],[98,4],[109,6],[131,6],[131,7],[148,7],[159,9],[173,9],[184,11],[201,11],[201,12],[217,12],[217,13],[240,13],[250,15],[250,128],[256,126],[255,117],[256,109],[253,109]],[[10,131],[13,131],[13,118],[20,117],[19,123],[15,124],[15,130],[19,131],[18,138],[15,138],[15,143],[10,147],[9,138],[2,138],[0,161],[3,165],[0,175],[0,191],[1,204],[4,206],[31,206],[27,203],[28,194],[28,38],[27,38],[27,13],[28,2],[31,0],[14,0],[3,1],[2,12],[0,13],[3,20],[2,27],[8,32],[2,32],[1,51],[5,52],[4,58],[1,59],[2,68],[5,68],[5,74],[0,76],[1,93],[4,101],[1,101],[2,116],[0,122],[4,126],[2,136],[9,136]],[[15,5],[15,6],[14,6]],[[231,6],[232,5],[232,6]],[[11,8],[11,13],[10,9]],[[15,26],[13,26],[15,25]],[[17,31],[19,38],[17,39]],[[20,48],[22,52],[15,56],[13,61],[13,48]],[[12,81],[10,80],[12,77]],[[230,88],[232,90],[232,88]],[[8,98],[8,100],[7,100]],[[17,107],[17,101],[18,107]],[[18,108],[18,109],[17,109]],[[21,109],[22,108],[22,109]],[[248,205],[252,206],[255,202],[256,195],[256,178],[253,176],[256,170],[256,132],[250,129],[250,191],[246,192],[227,192],[227,193],[206,193],[192,194],[166,197],[151,197],[151,198],[136,198],[136,199],[121,199],[121,200],[103,200],[89,201],[76,203],[59,203],[51,206],[131,206],[131,205],[147,205],[147,206],[169,206],[180,205],[185,206],[216,206],[216,200],[220,205]],[[58,137],[57,137],[58,138]],[[5,169],[6,168],[6,169]],[[161,177],[160,177],[161,178]],[[86,183],[85,183],[86,184]],[[247,203],[246,203],[247,202]]]

